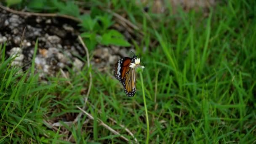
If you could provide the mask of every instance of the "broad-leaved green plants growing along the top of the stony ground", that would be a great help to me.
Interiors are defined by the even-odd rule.
[[[6,2],[8,5],[14,5],[21,3],[21,0],[6,0]],[[25,3],[30,11],[48,11],[81,19],[82,22],[79,24],[83,31],[81,37],[83,37],[89,49],[95,48],[98,43],[102,45],[131,46],[125,40],[123,34],[115,29],[109,29],[114,24],[112,15],[99,10],[95,6],[92,6],[90,15],[80,15],[78,5],[72,0],[67,0],[65,3],[61,0],[29,0]]]

